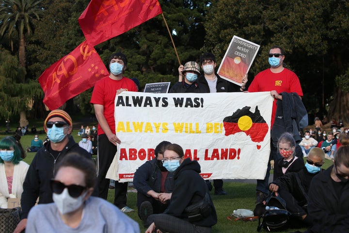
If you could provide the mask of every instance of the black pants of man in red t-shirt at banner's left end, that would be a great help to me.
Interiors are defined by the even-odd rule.
[[[110,179],[106,179],[107,171],[117,152],[117,147],[112,144],[106,134],[98,135],[98,154],[97,154],[97,181],[98,197],[107,200]],[[115,181],[114,205],[119,209],[127,206],[127,182],[119,183]]]

